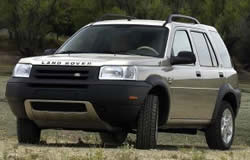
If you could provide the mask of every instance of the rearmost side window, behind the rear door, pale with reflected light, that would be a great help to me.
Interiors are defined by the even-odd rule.
[[[232,67],[231,58],[229,56],[227,47],[225,43],[223,42],[222,38],[220,37],[219,33],[211,32],[211,36],[218,50],[217,52],[220,55],[220,58],[222,60],[223,67],[231,68]]]

